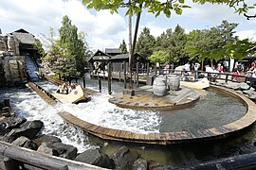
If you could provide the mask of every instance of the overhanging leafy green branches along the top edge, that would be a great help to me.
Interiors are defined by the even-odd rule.
[[[225,4],[229,6],[229,8],[234,8],[235,12],[247,13],[250,8],[255,8],[256,4],[247,4],[245,0],[192,0],[193,3],[197,4]],[[141,12],[141,8],[147,8],[148,12],[152,12],[155,16],[158,16],[161,12],[163,12],[167,17],[171,17],[172,11],[176,14],[182,14],[183,8],[190,8],[185,5],[185,0],[178,1],[159,1],[159,0],[82,0],[82,4],[87,5],[87,8],[95,8],[96,10],[101,9],[110,9],[111,12],[118,12],[120,7],[126,7],[126,15],[134,15],[138,12]],[[139,6],[142,4],[141,8]]]

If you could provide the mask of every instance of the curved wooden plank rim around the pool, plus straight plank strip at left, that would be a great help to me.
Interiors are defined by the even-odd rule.
[[[49,105],[54,106],[57,103],[53,97],[49,96],[44,89],[40,88],[36,84],[29,82],[27,85],[38,93]],[[100,137],[103,140],[144,144],[182,144],[226,138],[229,135],[250,127],[256,121],[256,104],[253,101],[248,99],[246,96],[230,91],[227,88],[214,85],[210,85],[210,88],[238,98],[247,107],[247,112],[245,115],[242,118],[221,127],[176,132],[150,132],[147,134],[142,134],[127,130],[97,126],[83,121],[66,111],[59,112],[58,114],[67,123],[73,124],[76,127],[81,127],[84,131]],[[87,89],[84,91],[86,90]]]

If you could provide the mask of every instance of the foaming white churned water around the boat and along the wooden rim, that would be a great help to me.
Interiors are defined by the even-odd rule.
[[[40,83],[48,91],[57,87],[51,83]],[[35,92],[28,89],[1,89],[0,98],[9,98],[16,114],[27,120],[44,122],[42,133],[59,137],[64,144],[76,146],[79,152],[89,148],[99,147],[90,144],[82,129],[66,124],[58,115],[60,111],[68,111],[80,119],[92,124],[147,133],[158,131],[161,118],[157,112],[150,110],[120,109],[108,102],[110,95],[101,93],[91,96],[91,101],[78,105],[58,103],[51,107]]]

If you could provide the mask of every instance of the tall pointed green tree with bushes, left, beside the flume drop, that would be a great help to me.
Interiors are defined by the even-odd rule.
[[[43,60],[53,67],[56,73],[74,76],[83,71],[86,66],[85,58],[89,57],[90,53],[84,39],[85,34],[78,32],[78,28],[72,25],[67,16],[64,16],[62,24],[59,39],[52,28],[49,29],[49,35],[43,34],[47,51]]]

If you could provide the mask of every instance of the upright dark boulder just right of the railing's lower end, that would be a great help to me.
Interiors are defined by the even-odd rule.
[[[130,151],[130,149],[126,146],[122,146],[119,148],[117,152],[115,152],[111,158],[116,163],[116,169],[133,169],[133,164],[140,155],[136,151]]]

